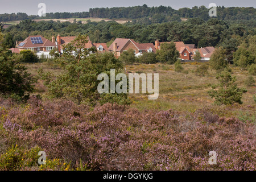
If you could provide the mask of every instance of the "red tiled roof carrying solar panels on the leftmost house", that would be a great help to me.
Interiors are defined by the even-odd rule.
[[[35,38],[35,37],[40,37],[43,41],[42,44],[33,44],[31,42],[30,38]],[[24,43],[22,46],[20,45],[20,43]],[[44,38],[41,35],[32,35],[32,36],[28,36],[27,39],[23,40],[22,42],[19,42],[18,46],[16,46],[17,48],[36,48],[36,47],[56,47],[56,45],[54,43],[52,43],[51,41],[49,41],[48,39]]]

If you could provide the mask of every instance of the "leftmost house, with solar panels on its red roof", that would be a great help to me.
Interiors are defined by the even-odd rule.
[[[16,42],[16,48],[12,51],[18,53],[19,51],[29,49],[34,51],[38,57],[51,58],[52,56],[49,55],[49,52],[54,48],[57,48],[57,46],[50,40],[41,35],[32,35],[22,42]]]

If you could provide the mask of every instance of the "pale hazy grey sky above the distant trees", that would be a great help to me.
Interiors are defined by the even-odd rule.
[[[0,0],[0,14],[3,13],[27,13],[28,15],[38,14],[38,4],[46,4],[46,13],[55,12],[82,12],[89,11],[93,7],[129,7],[142,6],[146,4],[152,6],[171,6],[173,9],[181,7],[193,7],[204,5],[208,7],[209,3],[216,3],[217,6],[225,7],[255,7],[255,0]]]

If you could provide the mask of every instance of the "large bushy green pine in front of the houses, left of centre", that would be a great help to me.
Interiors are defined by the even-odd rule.
[[[49,96],[73,100],[78,105],[82,102],[96,104],[98,100],[101,104],[128,103],[127,94],[115,93],[106,96],[98,93],[97,86],[100,81],[97,80],[97,76],[100,73],[110,75],[110,69],[115,69],[115,74],[118,74],[123,71],[123,64],[115,59],[111,52],[92,53],[96,49],[85,49],[86,43],[87,35],[78,35],[75,40],[63,47],[63,55],[56,58],[64,70],[61,75],[54,76],[49,72],[44,73],[42,69],[39,70],[39,76],[44,80]]]

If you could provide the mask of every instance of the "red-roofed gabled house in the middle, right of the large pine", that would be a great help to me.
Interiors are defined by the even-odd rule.
[[[115,53],[115,55],[119,57],[122,52],[127,51],[130,48],[134,50],[134,54],[137,56],[142,55],[143,52],[156,51],[154,44],[152,43],[140,44],[135,42],[133,39],[121,38],[114,40],[114,42],[109,46],[109,51]]]

